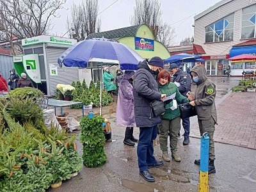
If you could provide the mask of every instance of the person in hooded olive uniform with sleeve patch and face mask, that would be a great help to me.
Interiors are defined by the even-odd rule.
[[[206,70],[203,65],[193,67],[190,74],[193,77],[193,83],[196,84],[195,100],[191,101],[190,104],[196,107],[201,136],[204,132],[208,132],[210,139],[208,174],[216,173],[213,140],[215,124],[217,124],[217,112],[215,107],[216,86],[211,79],[208,79],[206,76]],[[200,164],[200,159],[196,159],[195,164]]]

